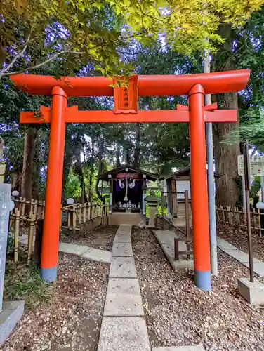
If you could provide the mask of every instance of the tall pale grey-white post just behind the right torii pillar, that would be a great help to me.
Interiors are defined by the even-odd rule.
[[[210,72],[210,54],[204,59],[204,73]],[[211,95],[205,95],[205,105],[211,104]],[[216,239],[216,196],[213,170],[213,124],[206,123],[206,154],[207,154],[207,187],[209,198],[209,229],[210,229],[210,253],[211,273],[217,277],[217,239]]]

